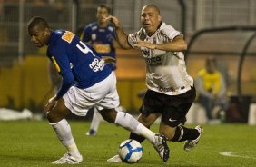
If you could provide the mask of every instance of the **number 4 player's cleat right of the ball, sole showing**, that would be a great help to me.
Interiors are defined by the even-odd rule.
[[[156,133],[154,135],[155,142],[153,143],[154,149],[158,152],[163,162],[169,159],[170,150],[164,135]]]

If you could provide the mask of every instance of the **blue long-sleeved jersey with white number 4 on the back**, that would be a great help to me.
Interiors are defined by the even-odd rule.
[[[56,30],[51,33],[47,56],[63,77],[57,97],[62,97],[73,84],[88,88],[111,74],[111,69],[94,49],[69,31]]]

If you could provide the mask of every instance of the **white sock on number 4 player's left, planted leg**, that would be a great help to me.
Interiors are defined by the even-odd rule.
[[[50,124],[53,126],[57,137],[64,144],[67,151],[70,153],[73,153],[74,155],[76,153],[79,153],[77,146],[74,142],[74,138],[71,133],[71,128],[69,126],[69,123],[67,123],[67,121],[63,119],[58,123],[50,123]]]

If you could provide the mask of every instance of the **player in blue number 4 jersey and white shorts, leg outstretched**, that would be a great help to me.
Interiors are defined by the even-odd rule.
[[[84,116],[92,106],[99,110],[107,122],[145,137],[153,144],[162,161],[168,160],[169,148],[163,135],[153,133],[129,113],[115,111],[114,108],[119,105],[115,74],[90,45],[80,41],[72,32],[51,30],[42,17],[32,18],[27,29],[35,46],[47,46],[47,57],[63,79],[58,93],[44,106],[49,123],[67,150],[54,164],[83,161],[65,117],[70,112]]]

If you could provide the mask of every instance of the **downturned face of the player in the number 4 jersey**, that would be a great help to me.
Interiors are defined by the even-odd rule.
[[[28,30],[30,35],[30,40],[36,47],[43,47],[49,41],[49,31],[47,29],[42,29],[39,26],[34,26]]]

